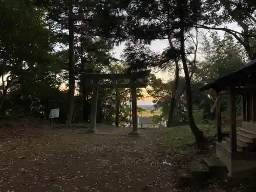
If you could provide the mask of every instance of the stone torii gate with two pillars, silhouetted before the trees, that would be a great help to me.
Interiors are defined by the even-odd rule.
[[[133,130],[129,135],[140,135],[138,131],[138,115],[137,115],[137,88],[147,87],[147,79],[151,70],[145,70],[140,72],[127,72],[127,73],[117,73],[117,74],[101,74],[101,73],[83,73],[84,79],[93,80],[92,85],[93,97],[92,97],[92,109],[91,109],[91,120],[90,127],[87,132],[94,133],[96,131],[96,116],[97,116],[97,102],[98,102],[98,90],[107,88],[131,88],[132,96],[132,121]],[[99,83],[100,80],[109,79],[112,81],[111,84]],[[128,83],[116,84],[116,80],[127,79]],[[113,83],[114,81],[114,83]]]

